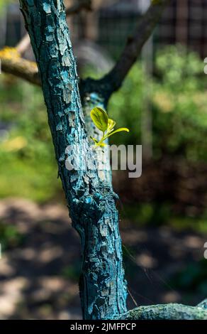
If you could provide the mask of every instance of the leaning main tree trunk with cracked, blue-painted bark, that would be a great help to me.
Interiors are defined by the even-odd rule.
[[[80,295],[85,319],[117,318],[126,311],[126,284],[118,231],[118,197],[100,180],[89,149],[78,77],[63,1],[21,0],[38,63],[59,175],[72,224],[82,243]],[[66,153],[69,145],[72,152]],[[65,168],[72,158],[77,170]],[[84,158],[91,168],[82,168]]]

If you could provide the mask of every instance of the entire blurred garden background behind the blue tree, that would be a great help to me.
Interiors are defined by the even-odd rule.
[[[93,1],[69,17],[80,77],[118,58],[147,1]],[[72,1],[65,1],[70,6]],[[206,21],[206,23],[205,23]],[[1,48],[24,35],[17,1],[0,2]],[[142,144],[142,176],[113,172],[130,307],[198,303],[207,293],[206,1],[172,1],[108,114]],[[205,54],[206,53],[206,54]],[[33,59],[28,48],[25,57]],[[80,318],[79,239],[38,87],[0,75],[0,318]]]

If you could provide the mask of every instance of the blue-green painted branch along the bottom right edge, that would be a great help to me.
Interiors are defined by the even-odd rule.
[[[177,303],[140,306],[124,313],[122,320],[207,320],[207,299],[198,306]]]

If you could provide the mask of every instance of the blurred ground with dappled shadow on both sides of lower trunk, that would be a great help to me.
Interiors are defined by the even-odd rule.
[[[0,226],[0,318],[81,318],[79,237],[67,208],[1,200]],[[9,230],[11,226],[15,229]],[[203,298],[194,291],[186,295],[175,290],[171,277],[187,262],[203,258],[207,237],[168,227],[138,229],[125,221],[121,233],[130,308],[135,303],[197,303]]]

